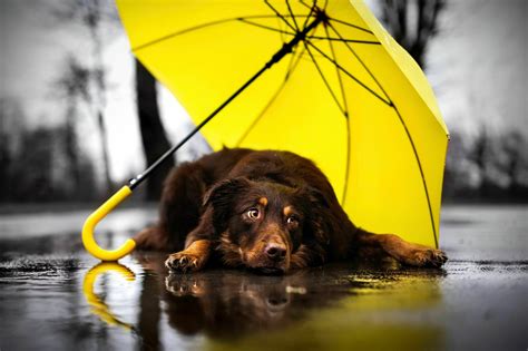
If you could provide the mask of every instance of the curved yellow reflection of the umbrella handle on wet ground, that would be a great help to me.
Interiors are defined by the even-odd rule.
[[[90,312],[99,316],[99,319],[109,325],[118,325],[127,331],[134,331],[134,326],[129,323],[120,321],[114,313],[111,313],[109,306],[97,295],[94,291],[96,280],[99,275],[115,272],[126,281],[133,282],[136,280],[136,275],[128,267],[115,263],[115,262],[101,262],[89,270],[82,282],[82,293],[85,294],[86,301],[91,306]]]

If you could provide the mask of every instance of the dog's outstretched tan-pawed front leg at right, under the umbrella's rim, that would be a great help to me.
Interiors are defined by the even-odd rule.
[[[393,234],[372,234],[359,230],[355,235],[358,251],[381,251],[398,262],[412,266],[440,267],[448,260],[441,250],[405,242]]]

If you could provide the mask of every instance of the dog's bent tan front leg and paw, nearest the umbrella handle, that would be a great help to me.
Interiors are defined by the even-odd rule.
[[[195,272],[202,270],[213,251],[214,227],[212,209],[207,209],[201,218],[198,226],[187,235],[185,250],[170,254],[165,265],[175,272]]]

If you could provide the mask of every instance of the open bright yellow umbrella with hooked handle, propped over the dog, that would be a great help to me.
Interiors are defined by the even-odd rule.
[[[134,53],[198,124],[189,137],[206,125],[214,149],[311,158],[356,225],[438,247],[448,130],[422,71],[363,2],[117,4]]]

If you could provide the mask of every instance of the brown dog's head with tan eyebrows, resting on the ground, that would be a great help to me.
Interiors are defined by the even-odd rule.
[[[282,274],[303,241],[313,240],[314,213],[325,199],[311,187],[238,177],[216,184],[204,204],[213,212],[227,265]]]

